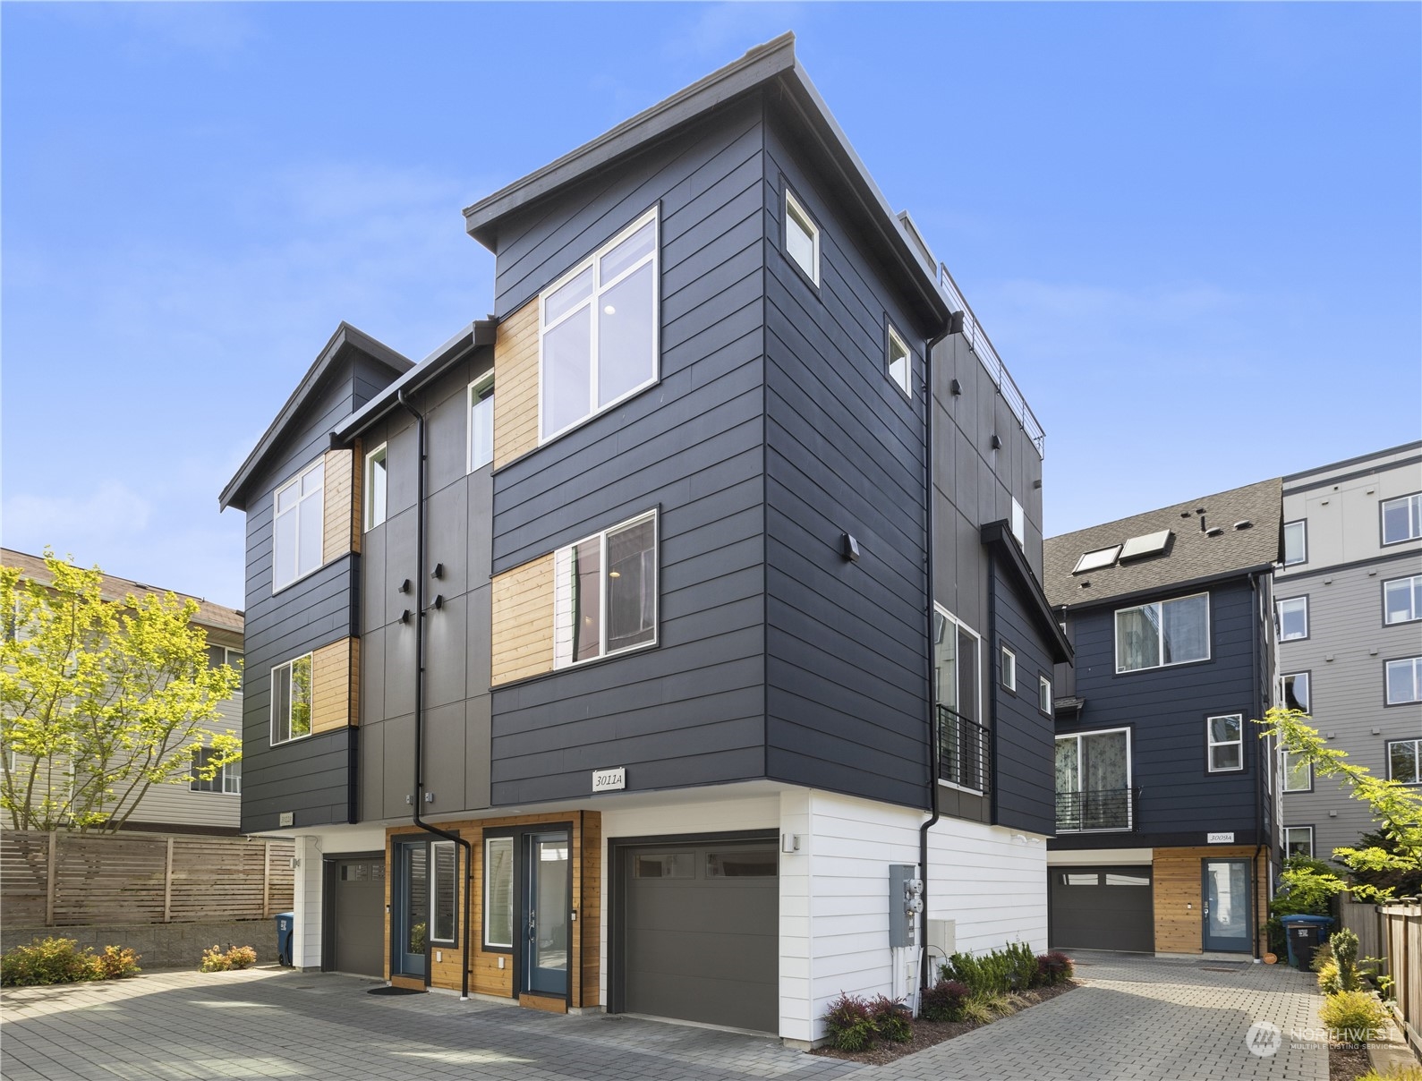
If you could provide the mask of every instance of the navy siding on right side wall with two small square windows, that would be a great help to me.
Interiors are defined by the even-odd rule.
[[[784,253],[786,183],[820,226],[816,289]],[[764,213],[766,772],[924,806],[924,394],[919,326],[778,125]],[[913,397],[886,371],[890,320]],[[859,540],[849,563],[840,536]]]

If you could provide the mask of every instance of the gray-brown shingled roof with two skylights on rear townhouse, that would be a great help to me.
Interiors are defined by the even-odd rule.
[[[1204,525],[1200,515],[1204,511]],[[1162,506],[1044,542],[1044,585],[1054,607],[1084,607],[1167,586],[1264,570],[1283,559],[1283,485],[1270,481]],[[1236,522],[1250,522],[1236,529]],[[1214,533],[1216,529],[1223,532]],[[1170,531],[1165,550],[1074,575],[1088,552]],[[1212,535],[1214,533],[1214,535]]]

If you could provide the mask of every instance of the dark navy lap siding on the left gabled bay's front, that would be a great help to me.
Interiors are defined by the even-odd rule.
[[[385,368],[354,350],[333,364],[300,430],[256,478],[247,502],[246,667],[242,723],[242,829],[347,822],[353,812],[356,733],[338,731],[270,745],[270,671],[293,657],[358,633],[358,556],[341,556],[272,592],[272,498],[293,474],[330,448],[331,428],[388,381]]]

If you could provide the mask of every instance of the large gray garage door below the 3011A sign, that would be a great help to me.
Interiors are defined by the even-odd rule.
[[[774,842],[660,845],[623,858],[623,1008],[779,1028]]]

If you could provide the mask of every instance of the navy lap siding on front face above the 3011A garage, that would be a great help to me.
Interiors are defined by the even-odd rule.
[[[658,644],[495,690],[496,805],[584,797],[602,767],[764,775],[761,138],[748,101],[501,229],[508,313],[660,201],[661,380],[493,476],[493,572],[661,516]]]

